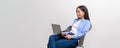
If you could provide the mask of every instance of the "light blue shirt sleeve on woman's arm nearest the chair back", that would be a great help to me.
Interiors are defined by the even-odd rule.
[[[87,21],[82,30],[78,30],[78,34],[72,35],[73,39],[78,39],[81,36],[85,35],[90,28],[90,21]]]

